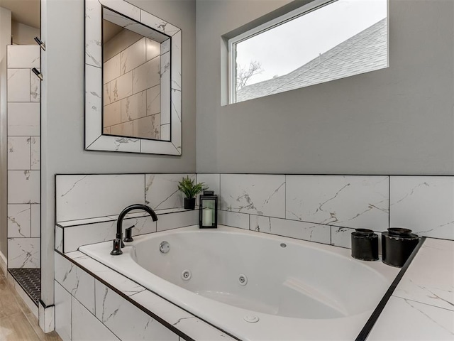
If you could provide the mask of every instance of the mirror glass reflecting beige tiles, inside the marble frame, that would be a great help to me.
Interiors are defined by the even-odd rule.
[[[170,36],[103,7],[102,134],[170,141]]]

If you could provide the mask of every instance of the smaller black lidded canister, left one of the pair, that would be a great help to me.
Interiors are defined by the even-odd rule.
[[[378,236],[372,229],[355,229],[352,232],[352,257],[361,261],[378,259]]]

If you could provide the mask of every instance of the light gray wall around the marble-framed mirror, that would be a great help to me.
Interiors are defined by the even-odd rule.
[[[194,173],[195,2],[129,0],[182,29],[182,156],[84,151],[84,1],[42,1],[42,298],[53,301],[55,173]],[[118,193],[121,195],[121,193]]]

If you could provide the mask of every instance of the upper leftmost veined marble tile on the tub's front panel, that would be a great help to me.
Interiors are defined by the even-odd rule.
[[[94,313],[94,278],[64,256],[57,252],[54,254],[55,281]]]

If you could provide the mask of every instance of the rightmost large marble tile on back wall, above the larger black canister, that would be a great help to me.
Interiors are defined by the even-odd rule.
[[[453,176],[392,176],[390,198],[391,227],[454,239]]]

